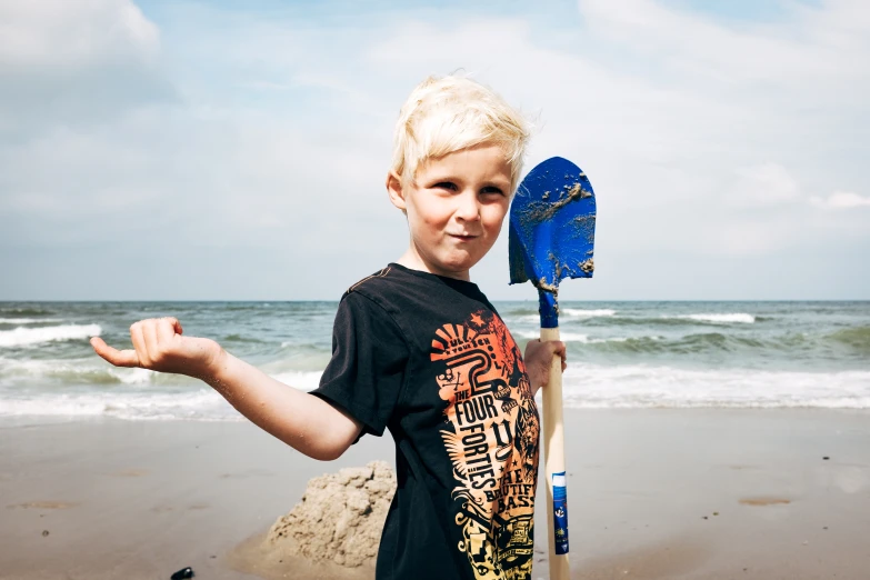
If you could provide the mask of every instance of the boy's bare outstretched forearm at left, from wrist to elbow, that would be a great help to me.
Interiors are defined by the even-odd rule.
[[[221,349],[200,377],[240,413],[297,451],[314,459],[339,458],[362,423],[323,399],[302,392]]]

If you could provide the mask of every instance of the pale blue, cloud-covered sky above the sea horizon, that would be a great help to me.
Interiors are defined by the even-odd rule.
[[[863,0],[0,0],[0,300],[338,300],[393,123],[492,87],[596,191],[562,300],[870,299]],[[472,281],[509,286],[507,221]]]

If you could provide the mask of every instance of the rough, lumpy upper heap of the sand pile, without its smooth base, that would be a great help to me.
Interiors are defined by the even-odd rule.
[[[396,493],[384,461],[313,478],[302,501],[278,519],[267,543],[290,543],[297,556],[356,568],[373,564],[383,521]]]

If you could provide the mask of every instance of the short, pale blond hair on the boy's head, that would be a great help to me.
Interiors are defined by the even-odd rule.
[[[404,186],[428,159],[491,143],[504,150],[513,193],[529,136],[529,122],[490,88],[467,77],[429,77],[399,112],[391,170]]]

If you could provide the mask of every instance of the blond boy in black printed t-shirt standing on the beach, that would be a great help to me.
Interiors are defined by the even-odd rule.
[[[561,342],[526,363],[469,270],[492,248],[517,188],[528,129],[489,89],[430,78],[402,108],[387,190],[408,218],[404,254],[342,296],[320,387],[288,389],[178,320],[130,328],[109,362],[211,384],[251,421],[321,460],[389,429],[398,490],[379,579],[529,579],[539,416]],[[528,367],[527,367],[528,364]],[[527,372],[528,370],[528,372]]]

